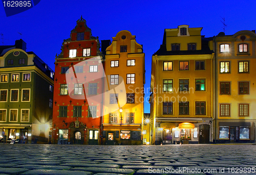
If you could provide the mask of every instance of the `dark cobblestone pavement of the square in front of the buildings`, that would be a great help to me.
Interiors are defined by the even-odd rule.
[[[256,174],[256,145],[0,144],[0,174]]]

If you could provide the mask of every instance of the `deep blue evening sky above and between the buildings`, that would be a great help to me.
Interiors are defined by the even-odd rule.
[[[70,37],[76,20],[82,15],[92,35],[99,40],[111,39],[121,30],[136,35],[145,53],[146,84],[150,87],[151,59],[162,43],[164,29],[179,25],[203,27],[205,37],[223,31],[225,17],[226,35],[240,30],[255,30],[256,1],[49,1],[41,0],[35,7],[6,17],[0,5],[0,34],[4,45],[14,45],[22,38],[27,51],[33,51],[54,69],[56,53],[60,54],[63,39]],[[22,33],[20,35],[19,33]],[[0,45],[3,45],[0,35]],[[145,97],[150,95],[149,91]],[[145,113],[150,112],[145,102]]]

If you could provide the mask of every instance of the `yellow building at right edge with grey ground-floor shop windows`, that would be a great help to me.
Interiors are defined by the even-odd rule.
[[[217,143],[255,141],[255,40],[255,30],[221,32],[214,39]]]

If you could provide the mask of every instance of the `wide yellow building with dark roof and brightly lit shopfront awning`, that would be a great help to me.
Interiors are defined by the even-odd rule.
[[[165,29],[152,56],[152,144],[212,142],[211,38],[202,28]]]

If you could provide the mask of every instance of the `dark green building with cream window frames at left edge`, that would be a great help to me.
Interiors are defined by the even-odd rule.
[[[0,138],[48,143],[54,72],[22,39],[0,52]]]

